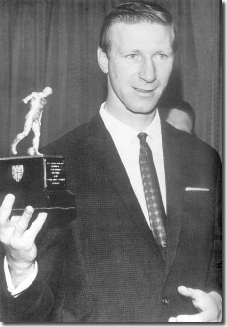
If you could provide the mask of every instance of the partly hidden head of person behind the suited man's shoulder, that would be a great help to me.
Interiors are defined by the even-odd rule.
[[[170,108],[163,108],[161,113],[162,118],[178,130],[194,134],[195,111],[188,102],[178,101]]]

